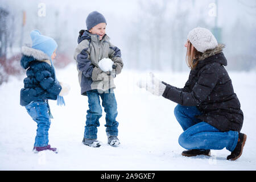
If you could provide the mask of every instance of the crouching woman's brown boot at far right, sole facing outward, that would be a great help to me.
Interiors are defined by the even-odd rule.
[[[227,160],[237,160],[238,158],[240,158],[243,152],[243,147],[245,146],[246,138],[246,134],[238,134],[237,146],[234,151],[232,151],[231,154],[226,158]]]

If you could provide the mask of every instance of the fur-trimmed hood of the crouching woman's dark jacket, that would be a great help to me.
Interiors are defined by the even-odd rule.
[[[218,46],[212,50],[205,51],[201,56],[199,56],[199,64],[207,63],[220,63],[224,66],[228,65],[228,61],[224,56],[222,50],[224,49],[224,44],[218,44]]]

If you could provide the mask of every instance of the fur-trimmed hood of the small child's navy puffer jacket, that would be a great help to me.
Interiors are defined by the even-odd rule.
[[[20,60],[20,65],[24,69],[30,67],[32,61],[44,61],[48,63],[48,61],[46,60],[50,59],[49,56],[43,51],[27,46],[22,47],[22,55],[23,56],[22,59]]]

